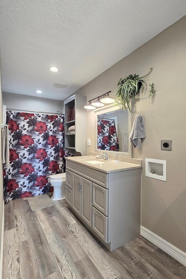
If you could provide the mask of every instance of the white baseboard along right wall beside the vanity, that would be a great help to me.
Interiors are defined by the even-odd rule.
[[[186,253],[142,226],[140,229],[140,235],[186,266]]]

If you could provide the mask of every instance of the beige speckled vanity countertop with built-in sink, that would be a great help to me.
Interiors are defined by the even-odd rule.
[[[115,159],[111,161],[106,161],[103,159],[97,159],[95,156],[77,156],[77,157],[65,157],[66,160],[74,162],[85,167],[96,169],[101,172],[110,173],[116,171],[126,171],[128,169],[140,169],[142,168],[142,160],[135,160],[132,158],[125,158],[127,162],[124,162],[124,158],[119,163],[114,162]],[[120,158],[119,158],[120,160]],[[130,163],[131,160],[131,163]],[[134,164],[135,162],[135,164]],[[137,164],[136,164],[137,162]]]

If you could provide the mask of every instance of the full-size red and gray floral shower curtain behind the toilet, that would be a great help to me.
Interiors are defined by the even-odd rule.
[[[4,199],[35,196],[53,191],[51,174],[65,172],[64,117],[7,112],[10,168],[3,170]]]

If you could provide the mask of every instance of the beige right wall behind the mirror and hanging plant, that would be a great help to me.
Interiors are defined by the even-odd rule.
[[[142,150],[133,149],[134,158],[142,158],[142,226],[186,252],[186,129],[185,58],[186,16],[162,31],[142,47],[87,83],[76,94],[92,99],[117,87],[119,78],[128,74],[143,76],[151,67],[155,100],[148,91],[134,101],[133,119],[142,114],[146,138]],[[91,65],[90,65],[91,67]],[[147,83],[149,84],[149,83]],[[87,112],[87,137],[95,151],[94,112]],[[161,139],[172,140],[172,151],[161,151]],[[145,176],[145,158],[167,161],[167,181]]]

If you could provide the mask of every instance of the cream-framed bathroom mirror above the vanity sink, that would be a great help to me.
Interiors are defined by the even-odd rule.
[[[132,158],[132,147],[128,140],[132,128],[131,113],[113,105],[94,112],[97,124],[96,152],[118,153],[119,156]]]

